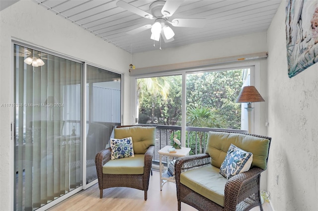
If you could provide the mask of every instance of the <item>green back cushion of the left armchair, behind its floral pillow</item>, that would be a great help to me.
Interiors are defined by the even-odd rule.
[[[120,127],[114,129],[114,138],[132,137],[134,154],[145,154],[149,146],[156,144],[156,127]]]

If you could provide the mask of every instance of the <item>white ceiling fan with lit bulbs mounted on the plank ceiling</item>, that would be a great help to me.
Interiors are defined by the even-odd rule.
[[[128,34],[134,35],[147,29],[151,29],[152,40],[159,41],[160,37],[162,37],[164,42],[168,43],[174,40],[174,32],[170,26],[202,28],[206,23],[206,19],[204,18],[174,18],[169,21],[169,18],[183,1],[184,0],[156,0],[149,6],[150,13],[123,0],[117,1],[116,5],[142,17],[155,20],[154,24],[138,27],[128,31]]]

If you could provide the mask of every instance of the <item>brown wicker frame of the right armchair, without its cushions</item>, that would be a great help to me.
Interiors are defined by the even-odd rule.
[[[210,133],[213,132],[209,132]],[[217,132],[218,133],[218,132]],[[238,134],[238,133],[231,133]],[[227,132],[224,133],[225,136],[227,136]],[[230,133],[229,133],[230,135]],[[242,135],[242,134],[239,134]],[[265,136],[258,136],[258,135],[251,135],[251,134],[243,134],[243,135],[250,135],[248,137],[257,137],[257,138],[263,138],[268,139],[267,143],[267,149],[264,149],[264,158],[265,160],[265,169],[267,164],[267,158],[268,158],[268,152],[269,152],[269,146],[271,138],[265,137]],[[208,143],[209,141],[213,142],[211,138],[208,137]],[[226,140],[225,142],[229,142],[229,140]],[[224,142],[224,143],[225,143]],[[231,143],[227,144],[216,144],[215,146],[218,154],[218,156],[222,157],[222,159],[225,158],[224,154],[226,154],[225,151],[221,152],[218,147],[222,148],[223,145],[230,145]],[[233,143],[234,144],[234,143]],[[240,143],[241,144],[241,143]],[[246,143],[245,143],[246,145]],[[178,200],[178,211],[181,210],[181,202],[186,203],[194,208],[196,208],[199,211],[245,211],[250,210],[253,207],[260,206],[260,210],[262,211],[262,205],[261,205],[261,199],[260,199],[260,173],[264,171],[265,169],[262,169],[260,167],[257,167],[256,165],[253,165],[251,168],[243,173],[239,173],[233,177],[231,177],[229,180],[225,179],[225,187],[224,187],[224,206],[220,206],[219,204],[215,203],[214,201],[211,201],[210,199],[202,196],[202,194],[199,194],[186,185],[182,184],[180,181],[180,174],[186,171],[191,171],[194,169],[198,169],[204,166],[207,166],[206,168],[209,168],[208,166],[216,165],[216,158],[211,158],[211,152],[207,152],[209,149],[207,146],[207,150],[205,154],[200,155],[193,155],[193,156],[186,156],[182,158],[178,158],[175,162],[175,180],[176,180],[176,189],[177,189],[177,200]],[[266,148],[266,147],[265,147]],[[228,149],[228,147],[227,147]],[[210,149],[211,151],[211,149]],[[251,151],[249,151],[251,152]],[[209,155],[210,153],[210,155]],[[253,153],[254,154],[254,153]],[[213,167],[216,168],[216,167]],[[200,172],[196,172],[196,175],[200,174]],[[218,174],[218,173],[216,173]],[[222,176],[221,176],[222,177]],[[182,180],[182,179],[181,179]],[[213,183],[213,180],[209,181],[209,183]]]

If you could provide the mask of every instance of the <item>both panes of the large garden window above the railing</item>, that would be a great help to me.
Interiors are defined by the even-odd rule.
[[[235,101],[246,82],[249,69],[187,74],[186,125],[241,129]],[[181,88],[181,75],[137,79],[138,123],[181,126]]]

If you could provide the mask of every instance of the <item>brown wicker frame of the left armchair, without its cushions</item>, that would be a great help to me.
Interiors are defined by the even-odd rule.
[[[133,125],[117,126],[130,127]],[[135,125],[136,126],[136,125]],[[103,190],[112,187],[128,187],[143,190],[145,192],[145,201],[147,200],[147,191],[149,187],[149,177],[152,171],[152,160],[155,146],[150,146],[145,153],[144,174],[103,174],[103,165],[110,160],[111,149],[97,153],[95,157],[99,198],[103,198]]]

